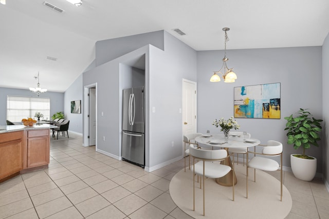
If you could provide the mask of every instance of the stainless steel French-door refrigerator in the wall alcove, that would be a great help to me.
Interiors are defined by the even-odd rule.
[[[123,90],[122,159],[145,167],[145,92],[144,87]]]

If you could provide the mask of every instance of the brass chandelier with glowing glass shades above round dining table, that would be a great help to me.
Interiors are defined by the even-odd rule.
[[[220,75],[218,75],[218,73],[222,74],[222,77],[224,78],[224,82],[226,83],[232,83],[235,82],[235,79],[237,79],[236,74],[233,72],[233,68],[228,68],[226,65],[226,62],[228,61],[228,58],[226,57],[226,42],[229,41],[229,38],[227,36],[227,31],[229,31],[230,28],[225,27],[223,28],[223,31],[225,31],[225,55],[223,58],[223,65],[222,68],[219,71],[214,71],[214,74],[211,76],[210,78],[210,82],[220,82],[221,81],[221,77]],[[224,69],[223,69],[224,67]],[[224,70],[225,74],[223,74],[221,71],[222,69]]]

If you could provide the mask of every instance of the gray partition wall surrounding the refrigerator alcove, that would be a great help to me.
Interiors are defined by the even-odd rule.
[[[140,48],[136,50],[134,50],[136,45],[132,43],[136,42],[134,36],[114,39],[116,44],[124,45],[123,51],[131,52],[83,74],[83,85],[97,83],[97,147],[111,155],[120,156],[121,93],[125,83],[122,82],[119,66],[120,63],[127,65],[132,59],[139,59],[145,55],[145,101],[147,103],[145,144],[147,147],[146,166],[150,170],[157,168],[157,165],[180,158],[182,132],[179,108],[181,108],[182,99],[182,78],[196,81],[196,51],[169,33],[165,31],[160,31],[160,33],[162,35],[158,38],[155,38],[154,33],[143,34],[143,43],[140,43],[140,35],[137,35],[136,45]],[[148,45],[148,42],[161,42],[161,40],[164,50]],[[106,42],[109,43],[111,40]],[[141,47],[142,44],[147,46]],[[108,52],[114,53],[112,57],[116,57],[115,49],[109,49]],[[104,52],[103,55],[111,56],[108,52]],[[97,49],[96,54],[100,55]],[[106,57],[96,56],[96,63],[98,63],[98,58],[106,59]],[[152,107],[156,108],[156,113],[150,113]],[[100,116],[101,112],[104,113],[103,116]],[[108,141],[104,142],[103,136]],[[176,147],[172,148],[171,142],[174,142]]]

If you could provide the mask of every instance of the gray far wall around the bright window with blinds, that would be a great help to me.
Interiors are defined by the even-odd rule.
[[[0,88],[0,125],[6,124],[7,117],[7,95],[16,96],[36,96],[30,90],[14,89],[14,88]],[[50,98],[50,116],[56,112],[63,112],[63,99],[64,93],[59,92],[46,92],[40,95],[41,97]],[[46,119],[46,118],[45,118]]]

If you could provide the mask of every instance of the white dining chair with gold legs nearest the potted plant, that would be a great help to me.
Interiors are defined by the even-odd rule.
[[[246,196],[248,198],[248,168],[254,168],[254,182],[256,182],[256,169],[264,171],[277,171],[280,167],[280,183],[281,183],[281,196],[280,201],[282,202],[282,143],[277,141],[268,141],[267,145],[260,145],[262,148],[261,153],[248,151],[247,153],[247,182],[246,182]],[[250,161],[248,161],[249,153],[255,154]],[[280,165],[275,160],[271,158],[266,158],[263,156],[280,156]]]

